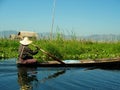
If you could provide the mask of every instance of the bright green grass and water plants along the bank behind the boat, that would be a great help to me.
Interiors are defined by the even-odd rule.
[[[85,40],[66,40],[63,37],[56,39],[40,39],[34,44],[47,52],[65,59],[101,59],[120,57],[120,42],[92,42]],[[0,58],[17,58],[19,40],[0,39]],[[35,47],[30,46],[32,49]],[[39,51],[35,58],[51,60],[50,57]]]

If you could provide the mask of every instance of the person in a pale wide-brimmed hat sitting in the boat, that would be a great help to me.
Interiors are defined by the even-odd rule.
[[[23,40],[20,41],[20,47],[19,47],[19,56],[18,56],[18,62],[22,64],[30,64],[30,63],[36,63],[37,60],[33,59],[33,55],[36,55],[39,51],[39,48],[36,47],[36,50],[32,50],[29,48],[29,44],[31,44],[32,41],[29,40],[28,37],[24,37]]]

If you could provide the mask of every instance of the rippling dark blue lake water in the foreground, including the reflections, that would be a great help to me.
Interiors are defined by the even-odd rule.
[[[120,90],[120,70],[99,68],[18,68],[0,60],[0,90]]]

